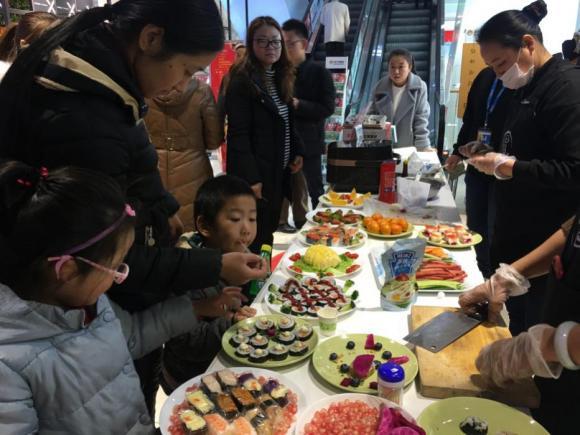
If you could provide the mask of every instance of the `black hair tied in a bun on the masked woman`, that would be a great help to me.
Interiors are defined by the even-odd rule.
[[[531,35],[544,43],[539,24],[547,14],[548,8],[543,0],[530,3],[521,11],[500,12],[479,29],[477,42],[497,42],[503,47],[519,50],[524,35]]]

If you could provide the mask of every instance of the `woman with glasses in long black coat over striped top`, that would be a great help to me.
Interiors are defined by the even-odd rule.
[[[252,251],[272,244],[290,174],[302,168],[302,142],[292,109],[294,68],[280,25],[271,17],[252,21],[247,53],[232,71],[226,95],[227,172],[246,180],[258,198],[258,234]]]

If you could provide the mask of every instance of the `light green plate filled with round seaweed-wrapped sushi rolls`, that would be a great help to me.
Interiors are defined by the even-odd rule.
[[[248,335],[248,331],[253,334]],[[224,352],[242,364],[284,367],[308,358],[318,334],[307,321],[285,315],[256,316],[238,322],[222,337]]]

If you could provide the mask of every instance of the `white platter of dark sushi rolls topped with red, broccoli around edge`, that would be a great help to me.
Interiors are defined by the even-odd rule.
[[[289,278],[280,286],[268,287],[266,302],[271,311],[293,318],[317,320],[323,307],[338,309],[339,317],[356,308],[359,293],[354,281],[338,282],[334,278]]]

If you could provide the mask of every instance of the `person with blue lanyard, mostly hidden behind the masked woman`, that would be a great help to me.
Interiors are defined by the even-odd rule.
[[[495,84],[495,85],[494,85]],[[499,150],[503,124],[513,91],[505,89],[491,68],[482,70],[469,90],[467,106],[463,114],[463,125],[453,147],[453,154],[447,160],[447,168],[455,169],[463,156],[459,147],[477,140],[478,131],[487,128],[491,132],[491,147]],[[487,127],[486,124],[487,117]],[[471,165],[465,174],[465,208],[467,225],[483,236],[483,242],[475,247],[477,265],[484,277],[493,274],[489,258],[490,229],[493,226],[493,185],[494,177],[485,175]]]

